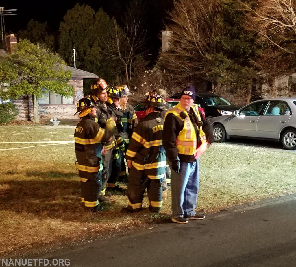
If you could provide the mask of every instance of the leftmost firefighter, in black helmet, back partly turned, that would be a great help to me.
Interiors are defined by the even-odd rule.
[[[110,127],[106,126],[104,129],[96,123],[96,111],[96,103],[92,97],[90,99],[81,98],[78,101],[76,112],[80,112],[78,116],[81,119],[74,132],[81,202],[86,210],[92,212],[102,209],[98,200],[102,190],[101,142],[106,142],[112,137]]]

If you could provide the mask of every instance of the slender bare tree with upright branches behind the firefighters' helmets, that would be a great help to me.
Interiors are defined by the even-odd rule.
[[[114,21],[113,30],[104,39],[106,49],[103,52],[109,56],[110,60],[120,60],[122,63],[117,71],[125,72],[126,83],[130,87],[130,79],[137,62],[143,52],[141,48],[144,44],[145,31],[140,31],[140,22],[130,17],[130,23],[122,30]]]

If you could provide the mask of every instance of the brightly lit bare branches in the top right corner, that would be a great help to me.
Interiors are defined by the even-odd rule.
[[[247,25],[259,33],[259,41],[268,41],[285,52],[295,54],[295,0],[259,0],[255,7],[242,0],[240,3],[247,11]]]

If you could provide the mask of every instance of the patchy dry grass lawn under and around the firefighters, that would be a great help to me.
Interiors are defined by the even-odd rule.
[[[63,125],[1,126],[0,142],[73,140],[74,129]],[[85,212],[80,204],[74,143],[1,143],[0,157],[0,254],[170,222],[170,190],[160,214],[148,211],[147,197],[146,209],[131,215],[121,213],[128,201],[125,195],[111,196],[102,212]],[[212,213],[294,194],[295,165],[296,154],[288,151],[214,143],[200,159],[197,210]]]

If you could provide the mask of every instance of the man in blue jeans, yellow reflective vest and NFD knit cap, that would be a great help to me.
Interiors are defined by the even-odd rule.
[[[189,85],[182,91],[178,105],[166,113],[163,125],[163,147],[172,170],[172,221],[175,223],[205,218],[194,211],[199,183],[198,158],[209,143],[205,132],[212,143],[213,131],[207,121],[202,121],[194,100],[195,89]]]

